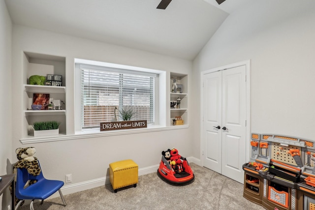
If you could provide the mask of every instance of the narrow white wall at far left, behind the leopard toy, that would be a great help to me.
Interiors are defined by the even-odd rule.
[[[0,176],[10,173],[11,167],[8,165],[12,154],[11,135],[11,36],[12,23],[4,1],[0,1]],[[0,197],[1,198],[1,197]],[[1,200],[1,199],[0,199]],[[10,196],[8,191],[4,194],[3,207],[9,205]]]

